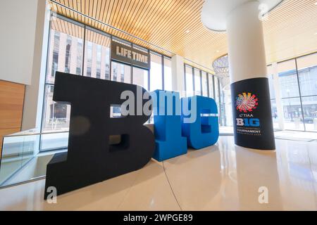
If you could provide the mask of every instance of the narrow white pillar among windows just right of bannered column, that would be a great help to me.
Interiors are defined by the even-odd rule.
[[[272,71],[273,71],[273,84],[275,91],[275,103],[276,108],[278,109],[278,125],[280,129],[285,130],[285,117],[284,117],[284,109],[282,105],[282,98],[280,96],[280,82],[278,81],[278,63],[272,63]]]

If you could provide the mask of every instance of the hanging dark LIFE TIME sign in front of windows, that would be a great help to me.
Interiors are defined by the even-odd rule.
[[[149,70],[149,53],[139,51],[130,46],[111,41],[111,59],[120,63],[136,65],[139,68]]]

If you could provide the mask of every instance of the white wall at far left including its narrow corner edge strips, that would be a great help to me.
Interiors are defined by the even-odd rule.
[[[26,84],[22,129],[39,128],[49,11],[46,0],[1,1],[0,79]]]

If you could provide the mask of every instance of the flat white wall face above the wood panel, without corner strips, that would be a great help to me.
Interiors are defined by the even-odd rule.
[[[0,79],[31,84],[37,1],[1,1]]]

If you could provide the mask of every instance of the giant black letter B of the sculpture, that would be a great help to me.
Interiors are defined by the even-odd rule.
[[[53,100],[71,105],[70,132],[68,153],[54,155],[47,165],[45,190],[53,186],[61,195],[141,169],[151,160],[154,135],[143,126],[149,116],[111,118],[111,105],[124,102],[123,91],[137,96],[132,84],[56,72]],[[111,145],[111,136],[120,136],[120,142]]]

